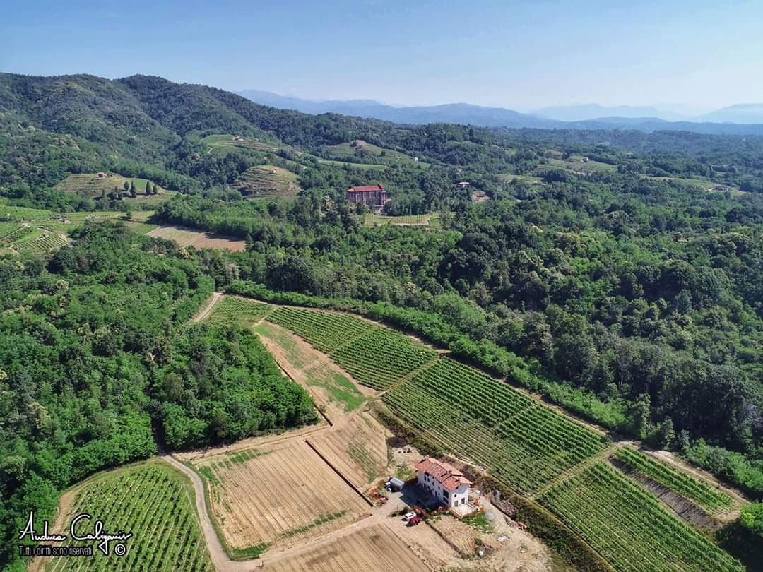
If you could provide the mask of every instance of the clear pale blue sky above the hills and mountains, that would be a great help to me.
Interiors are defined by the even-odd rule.
[[[4,4],[7,72],[520,110],[763,101],[760,0]]]

